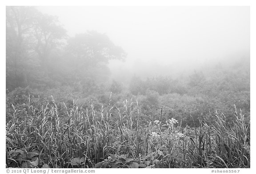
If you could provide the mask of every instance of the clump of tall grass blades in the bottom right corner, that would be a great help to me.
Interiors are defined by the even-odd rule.
[[[246,124],[242,112],[237,113],[232,126],[225,116],[216,115],[215,124],[201,124],[195,128],[196,137],[190,137],[188,156],[190,166],[217,168],[250,167],[250,123]],[[188,166],[189,167],[189,166]]]

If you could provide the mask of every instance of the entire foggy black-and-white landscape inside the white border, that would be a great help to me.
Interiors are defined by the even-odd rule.
[[[250,168],[249,6],[5,14],[6,168]]]

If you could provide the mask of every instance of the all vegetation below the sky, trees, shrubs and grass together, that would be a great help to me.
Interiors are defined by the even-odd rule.
[[[250,167],[248,60],[109,79],[109,60],[125,57],[105,34],[67,37],[56,17],[7,7],[8,166]]]

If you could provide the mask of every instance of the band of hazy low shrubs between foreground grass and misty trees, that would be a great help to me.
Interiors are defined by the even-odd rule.
[[[133,77],[130,86],[112,81],[105,85],[85,83],[86,87],[78,86],[79,89],[74,89],[71,86],[45,91],[28,87],[18,88],[7,94],[7,121],[12,115],[12,104],[16,107],[26,104],[30,95],[32,104],[33,102],[44,104],[52,100],[53,97],[56,104],[60,106],[60,110],[65,107],[72,108],[74,104],[84,109],[90,109],[92,103],[97,111],[100,111],[102,106],[112,106],[113,110],[116,110],[116,107],[120,107],[120,104],[123,104],[126,99],[132,99],[133,103],[139,102],[141,123],[144,125],[161,116],[162,119],[173,117],[181,121],[182,126],[198,126],[200,120],[205,123],[213,121],[216,113],[224,113],[227,123],[232,124],[234,105],[242,109],[245,120],[248,122],[250,120],[248,74],[240,72],[233,77],[234,73],[232,72],[233,70],[228,72],[214,70],[214,73],[209,73],[207,76],[202,73],[194,73],[191,78],[188,77],[189,80],[183,78],[183,81],[181,79],[173,80],[170,77],[146,80]],[[64,115],[64,113],[61,114]]]

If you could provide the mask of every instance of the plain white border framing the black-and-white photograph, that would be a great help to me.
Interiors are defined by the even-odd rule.
[[[171,6],[250,6],[250,14],[251,14],[251,106],[256,106],[255,105],[255,92],[254,90],[256,89],[255,86],[255,80],[253,80],[253,78],[255,79],[255,48],[256,48],[256,44],[255,44],[255,31],[256,31],[256,27],[255,27],[255,22],[256,22],[256,18],[255,18],[255,3],[253,3],[253,0],[176,0],[176,1],[172,1],[172,0],[126,0],[126,1],[121,1],[121,0],[91,0],[91,1],[84,1],[84,0],[60,0],[60,1],[56,1],[53,2],[52,0],[43,0],[43,1],[35,1],[35,0],[5,0],[4,2],[1,2],[1,6],[0,6],[0,19],[1,19],[1,50],[0,50],[0,55],[1,55],[1,62],[0,62],[0,70],[1,70],[1,82],[2,85],[0,85],[1,88],[1,100],[0,100],[0,106],[1,106],[1,119],[3,119],[1,121],[1,139],[5,139],[5,6],[6,5],[32,5],[32,6],[76,6],[76,5],[86,5],[86,6],[162,6],[162,5],[171,5]],[[252,173],[252,171],[255,169],[255,139],[254,139],[254,132],[255,132],[255,109],[254,107],[252,107],[252,111],[251,111],[251,169],[240,169],[240,173],[244,173],[244,172],[249,172]],[[3,173],[6,173],[6,169],[5,169],[5,146],[4,143],[0,144],[1,147],[1,151],[0,151],[0,157],[1,158],[1,162],[0,162],[0,171],[3,171]],[[141,172],[142,169],[122,169],[122,170],[107,170],[108,172],[111,173],[120,173],[120,172]],[[211,173],[211,169],[158,169],[157,172],[180,172],[180,170],[182,170],[182,172],[184,173]],[[106,172],[106,169],[96,169],[96,174],[98,173],[102,173],[102,172]],[[143,169],[143,172],[156,172],[156,169],[151,169],[151,170],[146,170]]]

